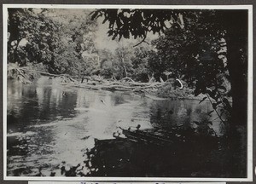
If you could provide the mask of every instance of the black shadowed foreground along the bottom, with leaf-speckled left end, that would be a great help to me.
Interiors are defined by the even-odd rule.
[[[95,140],[95,147],[85,152],[83,164],[70,169],[73,172],[62,172],[66,176],[246,177],[242,165],[241,175],[232,173],[224,138],[195,135],[190,130],[176,129],[175,134],[181,136],[172,137],[172,145],[166,147],[120,137]]]

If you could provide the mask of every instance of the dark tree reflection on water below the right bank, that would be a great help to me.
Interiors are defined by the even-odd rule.
[[[214,129],[217,135],[223,134],[221,122],[217,113],[212,111],[210,102],[199,104],[195,100],[169,100],[153,101],[150,105],[150,122],[154,127],[170,127],[183,125],[195,128],[193,122],[212,122],[210,128]]]

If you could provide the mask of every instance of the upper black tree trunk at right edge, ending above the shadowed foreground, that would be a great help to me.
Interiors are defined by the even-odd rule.
[[[225,10],[227,61],[232,95],[234,125],[247,124],[247,11]]]

